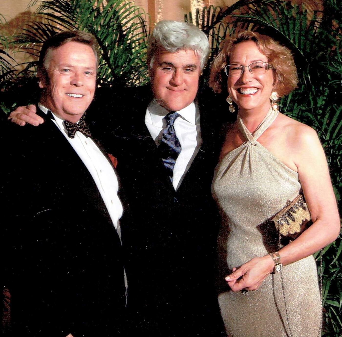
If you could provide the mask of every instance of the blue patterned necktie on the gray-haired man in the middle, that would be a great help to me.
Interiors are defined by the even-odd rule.
[[[164,166],[169,171],[171,181],[173,179],[174,164],[182,151],[181,143],[176,136],[173,126],[173,123],[178,116],[180,116],[179,113],[171,111],[164,117],[166,127],[163,130],[162,139],[158,148],[161,153]]]

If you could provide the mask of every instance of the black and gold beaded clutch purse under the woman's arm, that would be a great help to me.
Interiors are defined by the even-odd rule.
[[[287,200],[286,206],[271,220],[279,235],[289,237],[291,240],[297,238],[312,224],[303,194],[299,194],[292,201]]]

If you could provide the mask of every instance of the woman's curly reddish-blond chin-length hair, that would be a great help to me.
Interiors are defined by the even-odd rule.
[[[260,53],[267,57],[268,63],[275,69],[276,80],[273,90],[279,97],[288,95],[298,83],[297,68],[290,50],[269,36],[252,31],[240,32],[237,37],[227,38],[222,42],[220,52],[211,67],[209,85],[219,93],[226,88],[224,67],[229,64],[232,49],[234,45],[249,40],[257,44]]]

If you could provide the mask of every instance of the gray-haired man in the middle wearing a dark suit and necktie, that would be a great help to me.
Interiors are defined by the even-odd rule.
[[[95,125],[118,160],[124,192],[129,336],[222,335],[213,285],[219,214],[211,181],[226,112],[212,93],[198,90],[208,53],[198,28],[161,21],[148,46],[151,86],[97,96],[103,111],[116,107]],[[11,117],[41,122],[26,113]]]

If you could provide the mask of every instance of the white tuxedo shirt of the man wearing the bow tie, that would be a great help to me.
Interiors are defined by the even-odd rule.
[[[45,114],[48,113],[48,109],[42,104],[38,103],[38,107]],[[76,131],[75,137],[69,138],[68,132],[64,127],[64,121],[53,112],[52,114],[55,118],[52,122],[60,129],[93,177],[107,207],[111,221],[120,236],[119,219],[122,215],[122,205],[117,195],[119,184],[113,167],[90,137],[86,137],[81,132]]]

